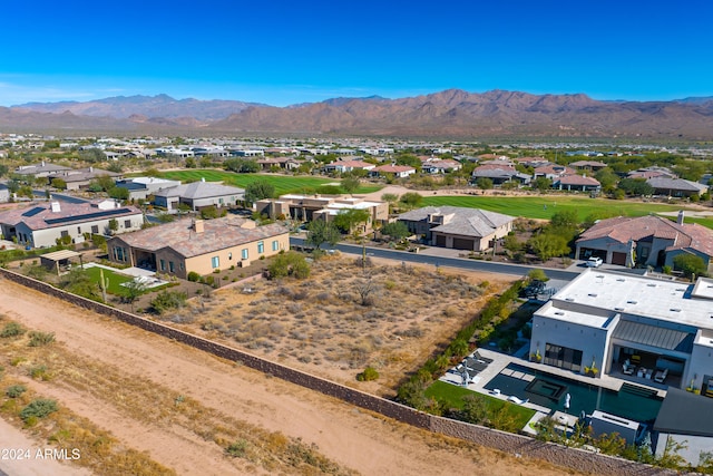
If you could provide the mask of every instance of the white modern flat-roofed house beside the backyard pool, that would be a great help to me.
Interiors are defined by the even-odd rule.
[[[588,269],[533,317],[546,366],[713,397],[713,280],[694,284]]]

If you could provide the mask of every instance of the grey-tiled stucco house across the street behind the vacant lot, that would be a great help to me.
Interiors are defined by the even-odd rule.
[[[399,221],[428,244],[484,251],[512,230],[515,216],[478,208],[426,206],[400,214]]]

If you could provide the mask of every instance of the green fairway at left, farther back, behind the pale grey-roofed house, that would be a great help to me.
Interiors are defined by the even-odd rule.
[[[236,174],[234,172],[212,168],[162,172],[159,176],[162,178],[182,181],[184,183],[196,182],[205,178],[206,182],[223,182],[242,188],[255,181],[264,181],[275,187],[275,193],[277,195],[284,195],[287,193],[314,193],[314,191],[320,186],[340,182],[338,178],[274,174]],[[382,185],[378,184],[362,185],[355,193],[365,194],[377,192],[382,187]]]

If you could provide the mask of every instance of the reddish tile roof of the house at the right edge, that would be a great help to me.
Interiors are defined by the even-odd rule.
[[[713,230],[695,223],[680,225],[655,215],[602,220],[584,232],[577,243],[602,237],[628,243],[629,240],[636,242],[649,236],[674,240],[674,244],[666,251],[691,249],[713,256]]]

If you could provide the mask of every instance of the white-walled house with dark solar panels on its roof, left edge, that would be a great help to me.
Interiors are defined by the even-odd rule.
[[[134,206],[121,206],[114,200],[95,203],[45,202],[27,208],[0,213],[0,229],[6,240],[32,247],[57,244],[71,236],[74,243],[85,241],[85,233],[109,234],[109,223],[116,220],[117,233],[140,230],[144,214]]]

